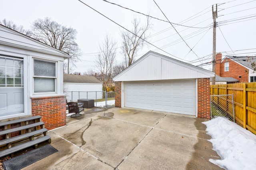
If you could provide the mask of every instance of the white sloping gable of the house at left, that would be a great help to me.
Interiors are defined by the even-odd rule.
[[[0,24],[0,45],[70,58],[67,53]]]

